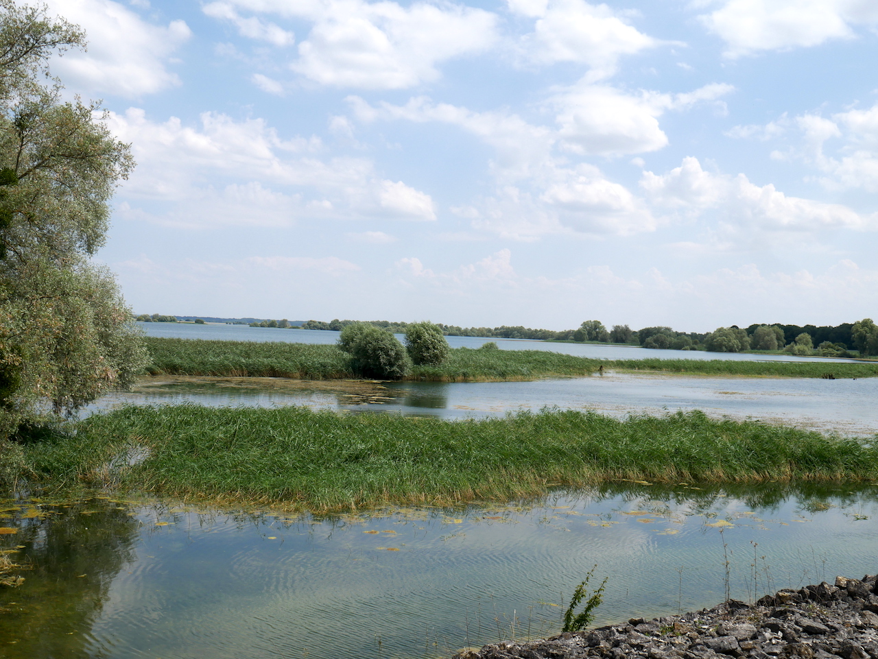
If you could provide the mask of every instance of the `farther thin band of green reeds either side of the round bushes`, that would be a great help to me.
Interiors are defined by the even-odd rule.
[[[261,376],[331,380],[356,377],[349,355],[335,345],[253,341],[146,338],[150,375]],[[406,379],[432,382],[536,380],[587,376],[599,369],[624,369],[712,376],[878,376],[878,363],[739,362],[727,360],[601,361],[545,350],[450,350],[440,366],[414,367]]]

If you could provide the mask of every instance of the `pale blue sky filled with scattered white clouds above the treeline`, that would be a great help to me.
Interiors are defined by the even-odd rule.
[[[50,0],[135,313],[878,318],[874,0]]]

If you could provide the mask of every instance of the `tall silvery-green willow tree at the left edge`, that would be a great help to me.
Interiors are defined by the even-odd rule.
[[[133,168],[95,104],[61,97],[48,59],[84,35],[0,0],[0,440],[125,387],[144,348],[112,274],[91,263]]]

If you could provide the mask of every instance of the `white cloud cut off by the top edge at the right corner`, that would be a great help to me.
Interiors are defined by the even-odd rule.
[[[728,0],[699,18],[726,42],[727,57],[740,57],[852,39],[853,25],[878,22],[878,5],[871,0]]]

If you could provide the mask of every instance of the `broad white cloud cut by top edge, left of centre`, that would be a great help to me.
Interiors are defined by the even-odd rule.
[[[223,12],[233,11],[238,17],[233,7],[312,22],[311,32],[299,42],[299,59],[290,66],[312,82],[333,87],[412,87],[438,78],[441,62],[479,53],[499,39],[495,14],[457,4],[402,6],[389,0],[221,4]]]

